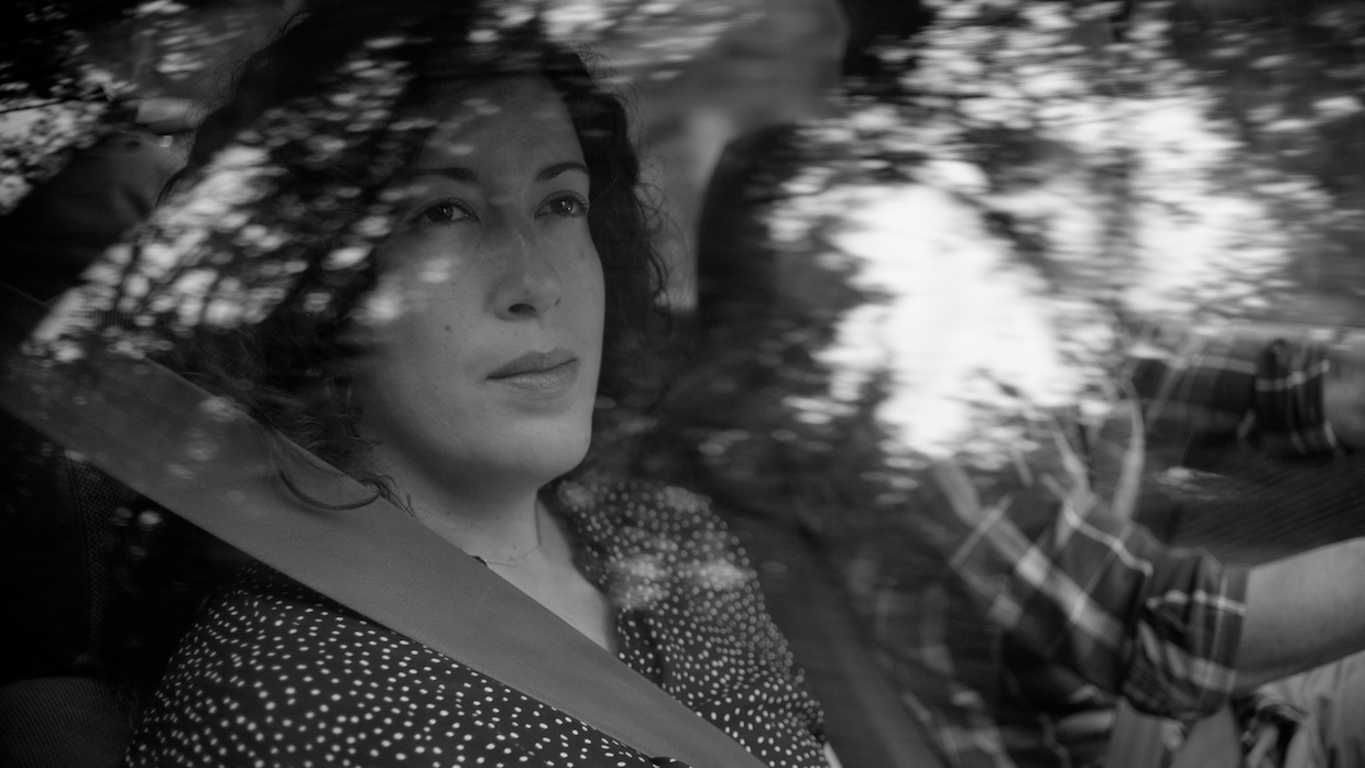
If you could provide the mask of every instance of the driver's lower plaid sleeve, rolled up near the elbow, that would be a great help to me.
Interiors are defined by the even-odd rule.
[[[986,506],[964,471],[936,465],[935,479],[969,528],[934,518],[954,542],[953,573],[1007,644],[1145,713],[1197,719],[1227,703],[1245,567],[1163,544],[1084,492],[1061,503],[1011,492],[1007,505]],[[1011,671],[1046,674],[1036,664]]]

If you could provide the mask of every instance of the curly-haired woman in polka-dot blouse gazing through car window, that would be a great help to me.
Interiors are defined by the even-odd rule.
[[[651,322],[637,164],[575,55],[450,5],[329,3],[254,57],[106,273],[105,336],[364,479],[763,761],[823,765],[706,505],[561,480]],[[261,565],[180,641],[127,764],[205,760],[669,763]]]

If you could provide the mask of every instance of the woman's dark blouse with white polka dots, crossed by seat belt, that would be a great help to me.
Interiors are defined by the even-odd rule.
[[[547,501],[575,535],[577,566],[617,607],[621,662],[768,765],[826,764],[819,705],[704,499],[587,479]],[[254,566],[182,640],[126,765],[681,763],[640,754]]]

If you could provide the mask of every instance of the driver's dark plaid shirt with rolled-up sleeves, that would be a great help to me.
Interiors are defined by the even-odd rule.
[[[1148,345],[1132,363],[1158,434],[1335,447],[1317,346],[1194,338]],[[935,467],[913,514],[849,569],[893,679],[950,765],[1099,764],[1119,696],[1188,720],[1231,693],[1246,569],[1129,522],[1111,491],[1123,482],[1103,475],[1125,465],[1107,458],[1134,458],[1134,443],[1074,432],[1039,435],[1058,450],[1006,473]]]

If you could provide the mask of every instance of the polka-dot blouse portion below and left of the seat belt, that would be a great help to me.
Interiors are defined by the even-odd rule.
[[[508,767],[580,754],[648,765],[613,738],[263,566],[182,641],[126,765]]]

